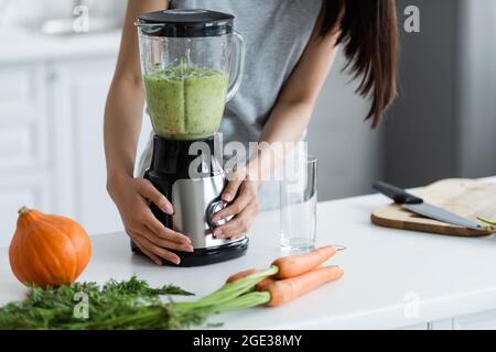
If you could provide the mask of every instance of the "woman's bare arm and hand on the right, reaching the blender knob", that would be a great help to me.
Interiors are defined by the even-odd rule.
[[[311,38],[290,78],[285,82],[263,127],[260,143],[265,144],[248,163],[241,177],[231,180],[223,194],[223,199],[235,201],[214,217],[236,218],[216,230],[219,238],[233,238],[246,233],[259,205],[257,193],[278,163],[278,160],[299,142],[306,129],[319,92],[328,75],[336,55],[337,35],[320,36],[320,16]],[[282,142],[282,148],[281,148]]]

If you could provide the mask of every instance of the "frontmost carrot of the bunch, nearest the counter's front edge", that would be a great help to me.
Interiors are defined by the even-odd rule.
[[[338,279],[343,274],[343,270],[337,266],[325,266],[300,276],[273,280],[266,287],[266,290],[270,294],[270,300],[267,306],[277,307],[284,305],[323,284]]]

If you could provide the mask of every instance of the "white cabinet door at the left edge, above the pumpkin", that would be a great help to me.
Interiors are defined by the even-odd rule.
[[[52,209],[45,66],[0,67],[0,245],[22,205]]]

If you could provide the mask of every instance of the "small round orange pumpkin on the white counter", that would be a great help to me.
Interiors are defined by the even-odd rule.
[[[21,283],[43,288],[72,284],[90,255],[88,234],[76,221],[26,207],[19,210],[9,260]]]

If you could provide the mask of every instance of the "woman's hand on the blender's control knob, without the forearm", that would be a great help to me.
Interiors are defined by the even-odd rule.
[[[237,175],[239,176],[240,173]],[[246,234],[260,211],[258,202],[259,184],[250,180],[249,176],[244,178],[231,177],[231,179],[220,196],[224,201],[230,204],[218,211],[212,220],[216,222],[229,217],[233,217],[233,219],[215,229],[214,237],[217,239],[237,239]]]

